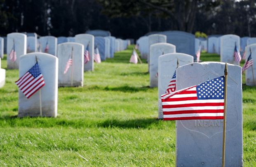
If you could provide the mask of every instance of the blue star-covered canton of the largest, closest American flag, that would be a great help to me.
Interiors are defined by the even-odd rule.
[[[197,85],[197,99],[224,99],[224,77],[218,77]]]

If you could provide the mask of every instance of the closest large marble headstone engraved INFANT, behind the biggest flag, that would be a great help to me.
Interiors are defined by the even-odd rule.
[[[191,63],[176,70],[176,90],[224,75],[225,63]],[[225,166],[243,166],[242,67],[228,64]],[[176,167],[221,167],[223,120],[176,121]]]

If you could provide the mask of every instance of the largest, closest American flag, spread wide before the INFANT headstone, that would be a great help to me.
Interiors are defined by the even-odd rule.
[[[161,96],[164,120],[223,119],[224,76]]]

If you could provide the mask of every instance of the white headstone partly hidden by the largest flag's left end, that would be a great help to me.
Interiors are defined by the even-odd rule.
[[[178,66],[193,63],[194,57],[185,53],[168,53],[158,57],[158,118],[162,119],[161,95],[165,94],[167,87]],[[177,90],[177,89],[176,89]]]

